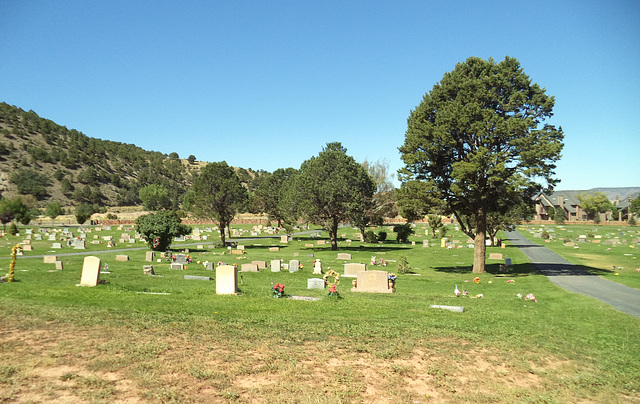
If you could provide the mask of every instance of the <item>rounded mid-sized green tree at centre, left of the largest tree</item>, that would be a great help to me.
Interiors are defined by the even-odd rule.
[[[367,170],[338,142],[302,163],[295,184],[301,214],[325,227],[332,250],[338,249],[340,222],[362,220],[375,188]]]

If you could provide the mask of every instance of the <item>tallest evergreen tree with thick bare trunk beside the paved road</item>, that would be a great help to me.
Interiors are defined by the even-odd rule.
[[[503,209],[501,200],[513,192],[527,200],[545,188],[538,181],[547,192],[558,182],[562,128],[545,123],[553,105],[516,59],[472,57],[409,115],[403,181],[428,182],[474,238],[473,272],[485,270],[487,218]]]

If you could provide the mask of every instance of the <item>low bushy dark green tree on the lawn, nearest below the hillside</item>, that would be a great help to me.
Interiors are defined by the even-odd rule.
[[[168,210],[138,217],[136,230],[156,251],[166,251],[174,237],[191,233],[191,227],[182,224],[176,212]]]

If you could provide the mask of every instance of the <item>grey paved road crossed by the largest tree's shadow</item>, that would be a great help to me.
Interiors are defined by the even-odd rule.
[[[507,232],[507,237],[551,282],[571,292],[599,299],[617,310],[640,318],[640,290],[586,272],[548,248],[532,243],[517,231]]]

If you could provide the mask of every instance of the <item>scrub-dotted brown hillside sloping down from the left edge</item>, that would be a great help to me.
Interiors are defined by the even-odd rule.
[[[31,195],[40,208],[54,200],[63,206],[138,205],[138,191],[150,184],[167,188],[178,208],[205,164],[91,138],[34,111],[0,103],[0,192],[10,198]],[[261,174],[236,172],[245,183]]]

